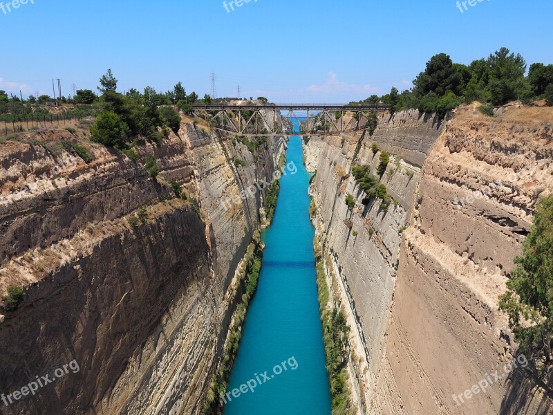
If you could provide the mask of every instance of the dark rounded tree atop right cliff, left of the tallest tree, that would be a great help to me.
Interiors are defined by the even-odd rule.
[[[418,75],[413,85],[420,96],[432,92],[442,97],[447,91],[460,94],[461,82],[461,76],[453,66],[451,57],[440,53],[431,57],[426,70]]]

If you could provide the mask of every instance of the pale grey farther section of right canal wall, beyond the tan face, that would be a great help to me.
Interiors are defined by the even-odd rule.
[[[357,400],[365,410],[377,379],[391,315],[400,247],[398,232],[420,179],[420,154],[427,154],[440,134],[440,126],[440,122],[418,111],[404,111],[393,118],[382,114],[372,138],[346,137],[343,144],[339,137],[311,138],[306,145],[306,165],[317,172],[311,187],[319,208],[317,233],[329,272],[339,282],[332,289],[341,293],[346,315],[355,328],[352,372],[356,373],[359,389]],[[409,137],[409,144],[402,147],[403,136]],[[373,142],[382,151],[403,155],[393,155],[382,176],[382,183],[396,201],[387,213],[379,209],[379,201],[362,204],[364,192],[350,175],[355,165],[371,165],[371,173],[376,174],[380,151],[373,153]],[[353,212],[348,212],[347,194],[356,199]],[[348,220],[351,228],[344,223]]]

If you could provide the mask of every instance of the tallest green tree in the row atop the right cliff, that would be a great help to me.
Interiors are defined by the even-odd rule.
[[[489,91],[494,105],[529,96],[530,86],[524,77],[526,62],[520,54],[509,54],[509,49],[500,48],[494,55],[489,55],[488,64]]]

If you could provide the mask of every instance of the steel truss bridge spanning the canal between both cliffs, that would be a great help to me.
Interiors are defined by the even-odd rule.
[[[364,131],[371,111],[388,111],[385,104],[201,104],[194,115],[213,121],[213,129],[238,136],[329,136]],[[306,113],[298,116],[297,111]],[[234,118],[234,119],[233,119]],[[300,131],[290,131],[290,120]],[[261,126],[260,126],[261,124]]]

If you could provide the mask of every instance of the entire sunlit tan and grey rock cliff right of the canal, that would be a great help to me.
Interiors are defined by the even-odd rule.
[[[444,123],[402,111],[380,116],[372,138],[306,145],[332,289],[355,328],[350,370],[362,412],[552,411],[542,389],[530,393],[520,363],[503,373],[516,344],[497,299],[538,195],[553,188],[551,119],[550,109],[515,107],[497,118],[463,108]],[[348,176],[354,165],[375,173],[372,142],[392,155],[386,213],[379,201],[362,205]],[[453,400],[496,370],[486,391]]]

